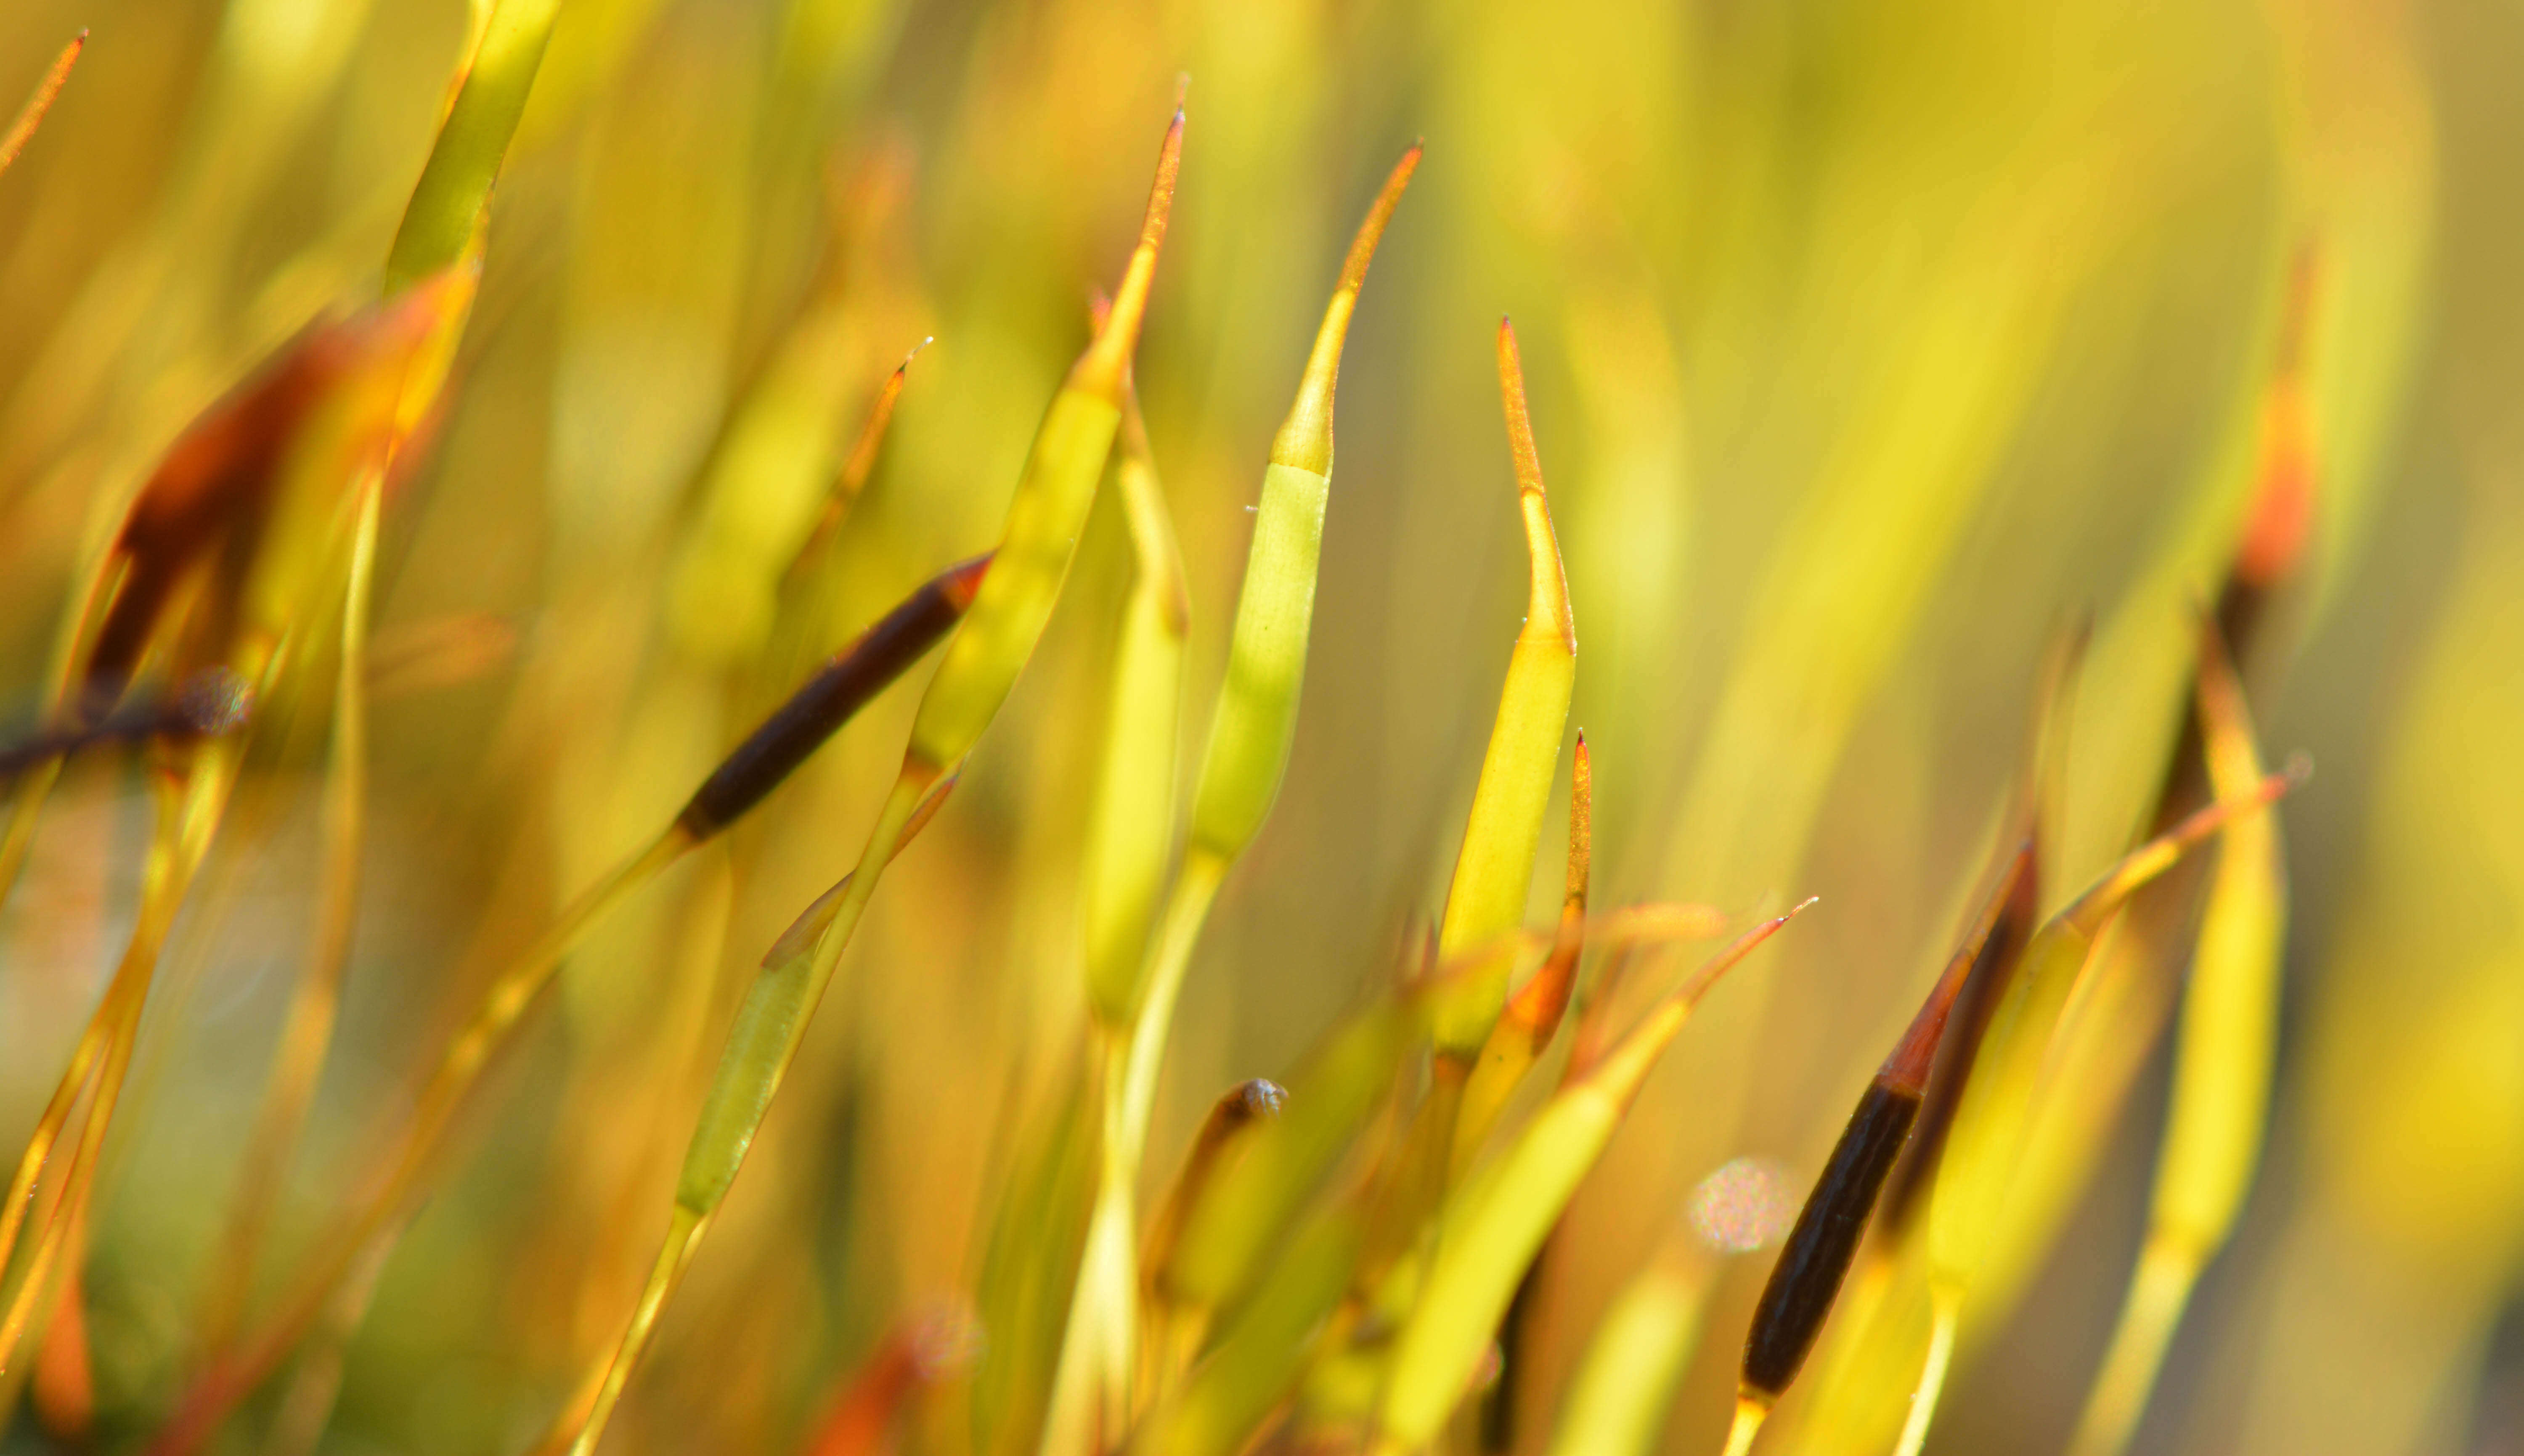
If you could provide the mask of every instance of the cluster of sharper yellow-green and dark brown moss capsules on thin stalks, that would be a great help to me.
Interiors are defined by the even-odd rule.
[[[507,30],[495,25],[480,38],[449,103],[381,300],[295,338],[174,444],[81,585],[48,719],[0,749],[10,787],[0,893],[18,878],[45,790],[68,757],[136,749],[156,810],[129,946],[0,1206],[0,1400],[15,1400],[38,1347],[76,1327],[73,1274],[93,1216],[98,1148],[159,949],[237,782],[240,732],[293,654],[338,636],[318,951],[290,1002],[245,1156],[220,1287],[199,1332],[202,1358],[151,1446],[169,1456],[207,1446],[310,1340],[348,1337],[363,1289],[416,1201],[449,1173],[449,1128],[581,936],[775,795],[853,714],[939,649],[866,848],[762,956],[689,1128],[654,1272],[613,1347],[560,1403],[545,1441],[596,1451],[639,1378],[679,1274],[745,1166],[818,999],[843,966],[863,908],[984,742],[1111,479],[1128,520],[1133,575],[1083,855],[1083,999],[1093,1040],[1085,1075],[1020,1158],[994,1214],[972,1310],[982,1337],[944,1337],[936,1325],[906,1322],[848,1373],[813,1451],[881,1448],[901,1411],[957,1360],[974,1360],[972,1441],[987,1451],[1171,1456],[1265,1441],[1378,1453],[1504,1448],[1519,1423],[1547,1426],[1557,1451],[1646,1448],[1689,1350],[1699,1279],[1671,1257],[1646,1269],[1605,1317],[1570,1395],[1545,1423],[1514,1411],[1530,1388],[1519,1358],[1530,1302],[1519,1289],[1550,1257],[1565,1206],[1699,999],[1805,906],[1744,926],[1689,903],[1590,908],[1593,780],[1578,734],[1562,913],[1550,929],[1527,926],[1567,737],[1578,631],[1507,323],[1497,363],[1530,601],[1444,916],[1378,994],[1325,1032],[1287,1090],[1244,1083],[1224,1093],[1161,1183],[1164,1196],[1138,1206],[1151,1183],[1148,1130],[1169,1030],[1204,919],[1265,830],[1290,760],[1333,482],[1343,341],[1368,262],[1418,164],[1413,146],[1368,209],[1272,439],[1209,739],[1194,765],[1179,765],[1186,588],[1131,361],[1166,240],[1181,109],[1159,151],[1138,245],[1111,298],[1098,300],[1090,343],[1042,416],[1000,543],[946,565],[833,651],[681,813],[492,979],[447,1042],[401,1136],[384,1146],[374,1176],[316,1254],[288,1272],[270,1307],[247,1307],[273,1216],[270,1189],[305,1123],[351,969],[369,575],[384,487],[411,469],[439,411],[480,273],[490,187],[550,5],[500,8],[500,18]],[[0,139],[0,169],[40,121],[76,53],[73,43]],[[825,568],[901,384],[896,371],[878,391],[790,575]],[[2282,371],[2274,399],[2284,404],[2287,389]],[[2075,1453],[2110,1456],[2128,1441],[2188,1289],[2234,1226],[2262,1138],[2284,916],[2269,805],[2302,777],[2302,770],[2264,770],[2234,666],[2302,535],[2304,482],[2289,469],[2297,457],[2284,432],[2269,459],[2244,550],[2201,618],[2196,704],[2163,772],[2153,838],[2067,896],[2047,883],[2039,853],[2067,754],[2062,704],[2077,661],[2075,633],[2062,636],[2034,702],[2024,770],[1994,820],[1979,908],[1916,1019],[1860,1090],[1784,1234],[1744,1340],[1734,1426],[1709,1431],[1711,1446],[1724,1438],[1729,1453],[1754,1448],[1837,1310],[1843,1337],[1800,1418],[1812,1431],[1850,1436],[1865,1431],[1858,1413],[1880,1408],[1883,1390],[1913,1390],[1901,1406],[1901,1431],[1873,1438],[1903,1456],[1921,1451],[2027,1138],[2044,1098],[2062,1095],[2062,1047],[2080,989],[2110,974],[2115,956],[2188,959],[2150,1231]],[[1184,770],[1194,787],[1179,807]],[[2201,855],[2186,876],[2166,876],[2211,843],[2214,855]],[[2150,883],[2155,898],[2140,901]],[[2181,893],[2161,893],[2163,886]],[[1716,936],[1729,939],[1689,974],[1656,972],[1673,946]],[[1588,964],[1593,977],[1583,977]],[[1875,1332],[1890,1330],[1890,1312],[1921,1289],[1931,1310],[1923,1355]]]

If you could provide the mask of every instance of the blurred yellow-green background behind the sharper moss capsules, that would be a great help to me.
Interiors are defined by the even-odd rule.
[[[33,722],[66,601],[167,442],[374,288],[467,10],[10,0],[0,106],[78,28],[0,179],[8,722]],[[497,951],[810,654],[994,537],[1189,73],[1138,353],[1194,593],[1186,744],[1340,247],[1413,136],[1429,159],[1343,371],[1287,787],[1194,964],[1153,1161],[1219,1088],[1285,1072],[1444,896],[1524,590],[1502,313],[1575,598],[1600,903],[1822,896],[1711,997],[1580,1196],[1540,1355],[1560,1370],[1704,1173],[1820,1166],[1943,956],[2042,643],[2080,611],[2057,886],[2143,818],[2309,257],[2312,555],[2254,674],[2272,754],[2320,767],[2287,802],[2272,1153],[2138,1446],[2524,1448],[2519,66],[2511,0],[565,0],[444,434],[389,502],[376,656],[411,671],[379,684],[346,1022],[280,1264]],[[830,580],[775,611],[926,336]],[[969,1287],[1083,1017],[1075,858],[1126,570],[1108,500],[611,1448],[790,1448],[881,1330]],[[386,1267],[326,1451],[543,1428],[646,1269],[745,972],[853,860],[909,702],[573,959]],[[273,714],[98,1209],[109,1446],[192,1358],[305,954],[323,696]],[[111,762],[48,810],[0,916],[0,1128],[33,1123],[111,969],[144,833]],[[2075,1421],[2161,1120],[2163,1055],[2130,1055],[2095,1191],[2007,1337],[1966,1350],[1931,1451],[2052,1448]],[[1714,1448],[1762,1264],[1721,1269],[1666,1448]],[[48,1441],[20,1418],[8,1448]]]

